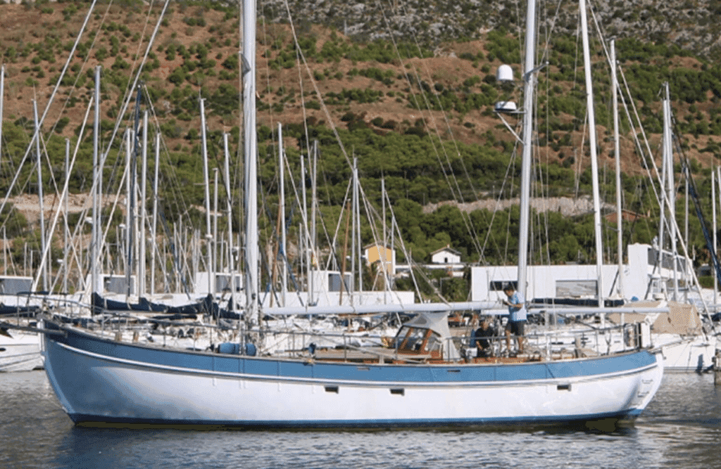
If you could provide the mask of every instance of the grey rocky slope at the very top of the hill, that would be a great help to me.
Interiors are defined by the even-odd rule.
[[[263,8],[271,22],[288,19],[285,2]],[[539,7],[541,35],[549,30],[575,34],[578,1],[562,0]],[[476,40],[498,28],[516,32],[525,17],[525,2],[508,0],[439,0],[388,3],[364,1],[288,1],[296,21],[326,24],[359,40],[417,37],[423,43]],[[606,37],[634,37],[646,43],[677,45],[707,58],[721,54],[721,6],[712,0],[588,1]],[[519,17],[523,18],[519,20]]]

